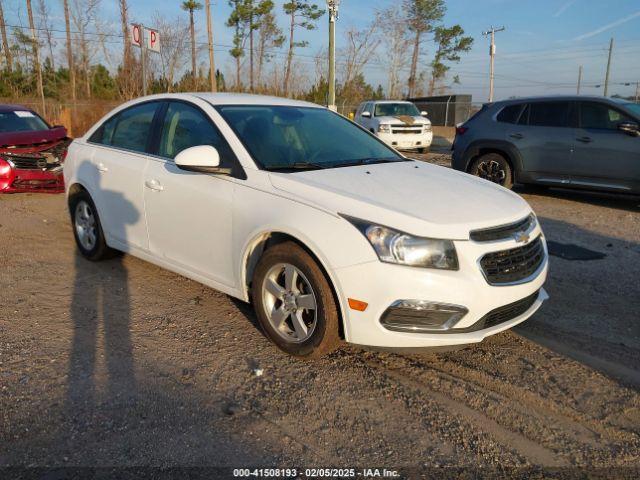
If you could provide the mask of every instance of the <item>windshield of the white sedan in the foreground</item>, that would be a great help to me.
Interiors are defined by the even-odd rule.
[[[404,161],[354,123],[324,108],[225,105],[217,109],[267,170]]]

